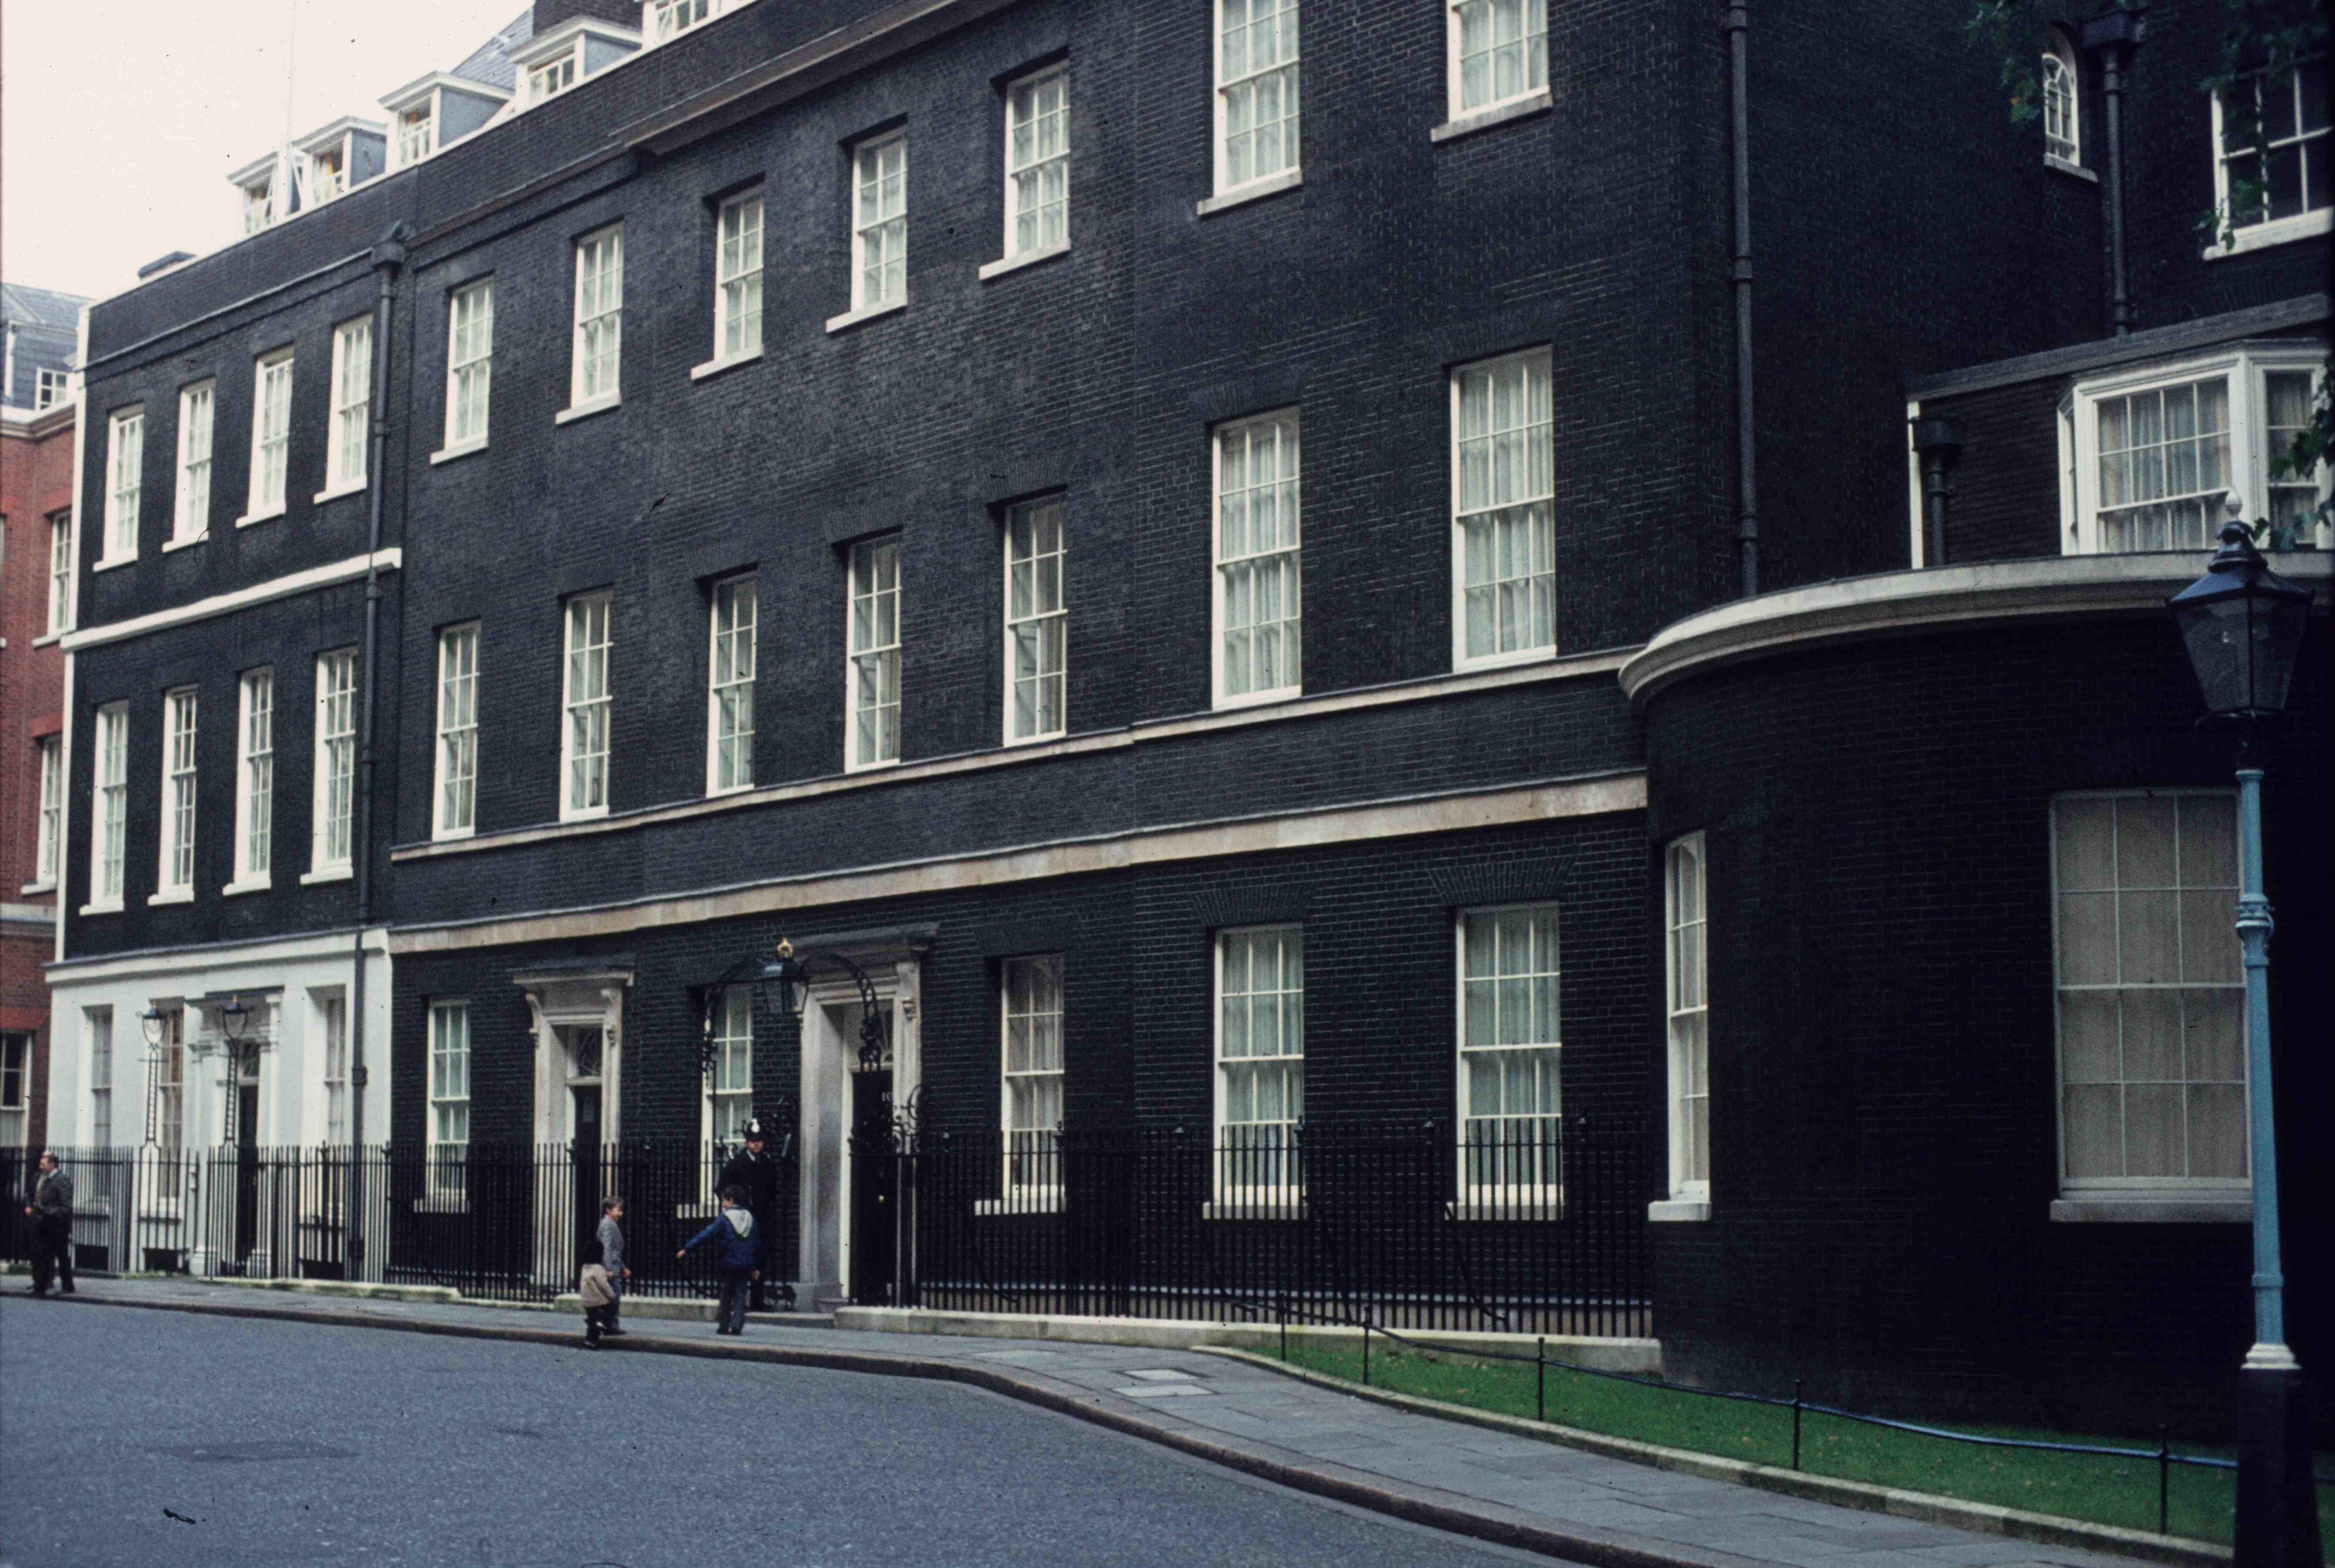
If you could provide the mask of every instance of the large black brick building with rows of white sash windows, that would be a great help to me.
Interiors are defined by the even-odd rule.
[[[876,1090],[927,1132],[1025,1146],[1644,1122],[1686,1377],[1847,1346],[1828,1365],[1866,1400],[2073,1409],[2080,1388],[1973,1370],[1884,1288],[1908,1248],[1971,1272],[1959,1202],[2036,1260],[1957,1330],[1973,1344],[2059,1356],[2069,1384],[2120,1365],[2132,1344],[2085,1351],[2078,1304],[2151,1258],[2242,1323],[2216,1283],[2228,1178],[2190,1218],[2050,1220],[2113,1202],[2038,1176],[2050,971],[2020,947],[1992,992],[1964,982],[1978,936],[1994,961],[2041,922],[2048,952],[2036,812],[2211,772],[2158,747],[2188,700],[2172,632],[2130,630],[2120,684],[2015,721],[1924,642],[1950,625],[1989,679],[2027,672],[2029,621],[2123,635],[2202,555],[2120,553],[2102,504],[2062,541],[2059,502],[2031,499],[2057,495],[2034,471],[2059,474],[2055,436],[2006,408],[1989,443],[1975,406],[1966,532],[1924,555],[1905,415],[2174,338],[2267,331],[2263,366],[2307,369],[2323,184],[2300,222],[2176,266],[2151,203],[2190,201],[2169,170],[2211,175],[2214,140],[2181,54],[2209,42],[2169,26],[2125,105],[2118,292],[2066,138],[2069,112],[2099,124],[2078,44],[2048,152],[1950,9],[1863,16],[1856,93],[1835,28],[1777,19],[1737,142],[1744,35],[1707,7],[1485,33],[1480,0],[1406,0],[1303,35],[1301,7],[542,0],[497,35],[509,75],[451,72],[509,96],[479,128],[290,219],[262,198],[241,243],[98,306],[82,506],[145,504],[82,539],[61,1027],[152,1015],[184,1141],[231,1097],[173,1052],[255,994],[257,1141],[355,1132],[329,1106],[364,1062],[362,1136],[441,1162],[726,1141],[759,1113],[799,1153],[806,1297],[869,1288],[848,1148]],[[2116,299],[2141,334],[2104,336]],[[222,467],[182,520],[187,429]],[[1989,555],[2050,555],[2017,567],[2043,586],[2015,616],[1952,565]],[[1765,593],[1730,602],[1744,586]],[[1975,609],[1887,609],[1940,595]],[[2094,611],[2113,628],[2069,621]],[[1803,644],[1800,686],[1768,672]],[[1845,658],[1875,665],[1854,705],[1821,681]],[[2323,779],[2309,712],[2295,777]],[[2052,714],[2099,728],[2052,730],[2090,770],[1982,765]],[[1875,733],[1933,831],[2024,826],[1926,849],[1915,912],[1889,905],[1882,812],[1849,842],[1775,840],[1744,882],[1737,824],[1814,833],[1882,765]],[[1933,747],[1964,765],[1919,763]],[[2309,884],[2274,891],[2323,919]],[[1835,912],[1940,968],[1866,954],[1828,987]],[[1705,931],[1709,1003],[1672,1008]],[[719,992],[782,936],[871,978],[887,1055],[862,1064],[841,971],[801,1038]],[[334,1015],[360,943],[364,1008]],[[1791,966],[1805,985],[1763,989]],[[2281,1006],[2323,1017],[2298,968]],[[2024,1078],[1819,1024],[1854,1008],[1912,1041],[1966,1001],[2024,1020],[1999,1036]],[[77,1052],[61,1097],[128,1104],[138,1059],[114,1050],[100,1087]],[[1933,1171],[1966,1162],[1924,1150],[1968,1129],[1982,1181],[1947,1190]],[[1812,1197],[1833,1167],[1845,1211]],[[448,1183],[395,1202],[467,1209]],[[2323,1204],[2295,1223],[2319,1234]]]

